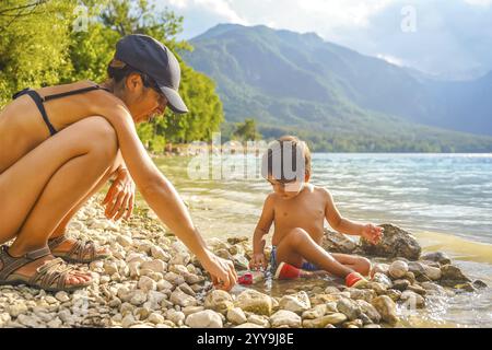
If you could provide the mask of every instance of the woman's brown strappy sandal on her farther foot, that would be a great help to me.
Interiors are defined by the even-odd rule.
[[[93,241],[77,240],[72,248],[68,252],[52,252],[62,242],[69,240],[66,235],[52,238],[48,241],[48,247],[51,249],[51,254],[58,258],[62,258],[69,262],[82,262],[89,264],[94,260],[107,259],[110,254],[97,253],[96,246]]]

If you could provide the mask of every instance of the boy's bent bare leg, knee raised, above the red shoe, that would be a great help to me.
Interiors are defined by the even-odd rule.
[[[277,260],[301,267],[304,259],[341,278],[345,278],[354,271],[350,266],[340,264],[333,256],[316,244],[306,231],[294,229],[277,246]]]

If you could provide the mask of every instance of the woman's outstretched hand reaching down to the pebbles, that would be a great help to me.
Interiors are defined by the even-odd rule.
[[[214,288],[230,291],[236,284],[237,273],[231,260],[220,258],[206,249],[204,258],[200,262],[210,273]]]

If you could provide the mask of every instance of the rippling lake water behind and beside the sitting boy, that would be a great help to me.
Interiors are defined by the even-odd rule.
[[[271,190],[266,180],[192,179],[189,158],[154,161],[206,237],[253,235]],[[259,159],[249,161],[259,165]],[[312,183],[330,190],[345,218],[396,224],[414,234],[424,250],[447,253],[467,273],[491,285],[492,154],[318,153],[313,154]],[[406,322],[492,327],[492,291],[457,295]]]

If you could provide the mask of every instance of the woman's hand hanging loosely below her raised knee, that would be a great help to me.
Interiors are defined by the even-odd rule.
[[[117,176],[103,200],[107,219],[119,220],[122,215],[129,219],[134,205],[134,183],[126,168],[118,168]]]

